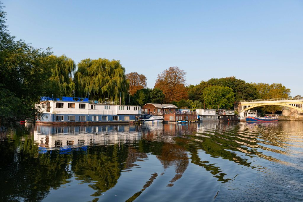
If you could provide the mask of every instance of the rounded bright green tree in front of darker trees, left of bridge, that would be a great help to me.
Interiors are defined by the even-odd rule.
[[[234,92],[225,86],[209,86],[203,90],[205,106],[211,109],[231,109],[234,105]]]

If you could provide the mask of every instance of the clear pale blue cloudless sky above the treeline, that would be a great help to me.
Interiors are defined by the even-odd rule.
[[[120,60],[153,88],[172,66],[187,84],[236,76],[303,95],[303,1],[0,0],[12,35],[76,63]]]

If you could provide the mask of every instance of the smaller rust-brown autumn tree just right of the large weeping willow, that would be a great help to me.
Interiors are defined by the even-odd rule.
[[[131,72],[126,75],[129,80],[129,94],[134,95],[138,90],[147,88],[146,86],[146,76],[138,74],[138,72]]]

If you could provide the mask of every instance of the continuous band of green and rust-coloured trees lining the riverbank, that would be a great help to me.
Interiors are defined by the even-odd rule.
[[[234,101],[285,98],[290,89],[282,84],[247,83],[233,76],[211,78],[186,85],[186,72],[170,67],[158,74],[153,89],[145,75],[125,74],[118,60],[83,59],[78,64],[50,48],[34,48],[10,35],[0,4],[0,123],[35,118],[35,104],[43,96],[86,97],[119,101],[122,104],[170,103],[179,108],[233,108]],[[299,95],[298,95],[299,96]],[[266,107],[275,112],[280,107]]]

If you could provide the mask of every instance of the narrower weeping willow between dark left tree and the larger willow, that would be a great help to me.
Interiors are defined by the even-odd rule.
[[[76,69],[75,62],[65,55],[50,55],[48,59],[52,65],[52,76],[50,80],[58,85],[62,95],[71,96],[75,90],[75,82],[72,79],[72,74]]]

